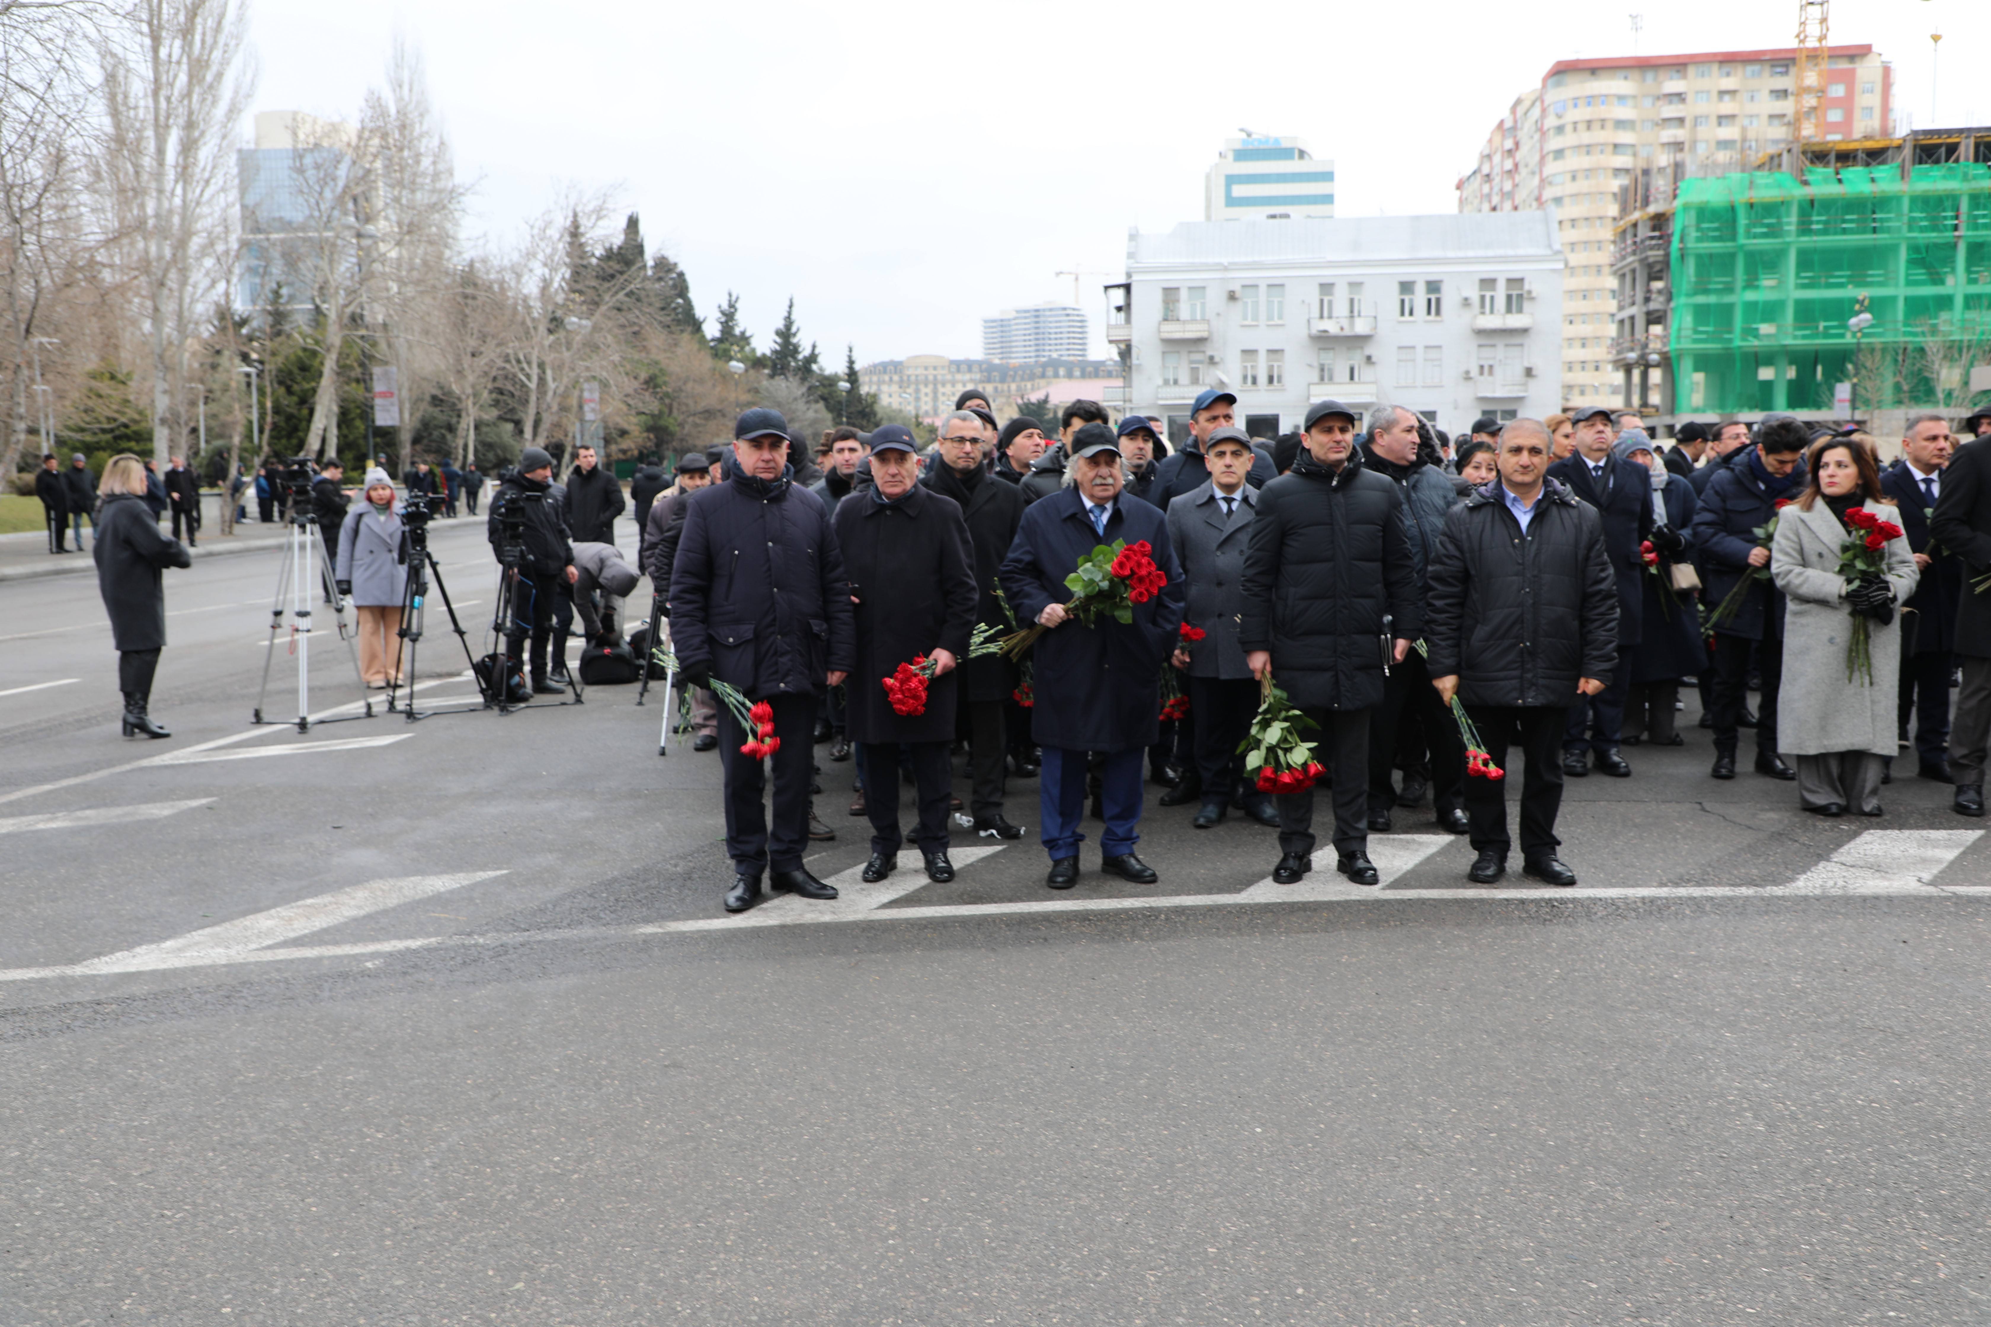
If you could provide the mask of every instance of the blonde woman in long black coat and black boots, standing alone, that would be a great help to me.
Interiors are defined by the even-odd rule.
[[[159,517],[145,501],[145,468],[135,456],[113,456],[98,485],[98,591],[111,619],[117,645],[117,690],[123,692],[123,734],[173,736],[151,722],[151,678],[165,649],[165,567],[191,567],[185,545],[159,529]]]

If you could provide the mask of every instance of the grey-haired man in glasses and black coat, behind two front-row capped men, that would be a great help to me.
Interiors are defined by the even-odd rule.
[[[920,483],[954,499],[968,523],[968,539],[974,549],[976,625],[1009,633],[1013,627],[1009,627],[996,593],[1001,589],[1001,559],[1015,543],[1025,503],[1023,493],[1013,483],[1003,483],[982,466],[982,448],[970,428],[974,420],[972,412],[958,410],[942,422],[936,444],[940,464]],[[878,468],[872,466],[872,477],[876,479],[876,475]],[[908,565],[920,567],[924,563]],[[856,573],[852,571],[850,577],[856,579]],[[1015,694],[1015,664],[1001,655],[962,659],[960,686],[962,704],[968,706],[968,760],[974,776],[970,812],[980,838],[1023,838],[1017,826],[1003,820],[1003,754],[1009,746],[1005,706]],[[866,772],[868,786],[870,772]]]

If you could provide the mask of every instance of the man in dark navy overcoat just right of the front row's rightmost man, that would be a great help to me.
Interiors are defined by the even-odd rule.
[[[1549,466],[1549,477],[1597,507],[1603,517],[1605,551],[1619,591],[1617,645],[1629,653],[1645,635],[1645,577],[1651,575],[1639,545],[1651,539],[1660,553],[1678,553],[1686,539],[1674,529],[1655,533],[1651,472],[1611,456],[1617,416],[1605,406],[1589,406],[1577,412],[1575,426],[1577,450]],[[1605,774],[1631,776],[1631,766],[1619,754],[1631,666],[1615,664],[1609,676],[1611,684],[1603,692],[1595,698],[1577,696],[1569,706],[1569,730],[1563,734],[1563,774],[1569,778],[1589,774],[1593,756]]]

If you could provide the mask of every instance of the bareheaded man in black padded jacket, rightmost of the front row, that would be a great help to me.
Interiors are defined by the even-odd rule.
[[[1507,736],[1521,730],[1521,871],[1573,885],[1577,873],[1555,855],[1563,806],[1557,754],[1571,702],[1611,680],[1621,615],[1603,519],[1547,477],[1551,446],[1541,420],[1513,420],[1495,454],[1499,481],[1445,515],[1426,643],[1432,684],[1445,704],[1465,704],[1495,768],[1507,764]],[[1481,885],[1507,873],[1507,782],[1465,778],[1465,816],[1479,853],[1467,877]]]

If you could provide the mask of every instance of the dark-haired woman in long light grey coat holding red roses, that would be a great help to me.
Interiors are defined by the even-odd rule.
[[[1856,442],[1828,438],[1806,458],[1810,485],[1784,507],[1770,545],[1770,579],[1788,601],[1784,680],[1776,746],[1798,768],[1798,798],[1818,816],[1880,816],[1881,760],[1895,752],[1901,674],[1897,605],[1915,591],[1907,539],[1889,539],[1885,573],[1840,575],[1840,549],[1866,507],[1893,517],[1874,458]],[[1899,521],[1895,521],[1899,525]],[[1848,678],[1854,617],[1866,619],[1872,674]]]

